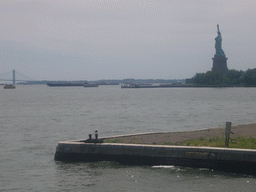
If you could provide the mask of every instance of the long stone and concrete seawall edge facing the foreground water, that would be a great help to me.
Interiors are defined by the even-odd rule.
[[[80,140],[59,142],[54,159],[66,162],[176,165],[256,174],[256,150],[247,149],[86,143]]]

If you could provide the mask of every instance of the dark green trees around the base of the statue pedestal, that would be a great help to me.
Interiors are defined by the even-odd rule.
[[[247,71],[228,70],[222,74],[217,71],[196,73],[192,82],[197,85],[234,85],[234,86],[256,86],[256,68]]]

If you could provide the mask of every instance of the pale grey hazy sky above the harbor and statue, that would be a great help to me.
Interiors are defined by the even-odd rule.
[[[183,79],[256,68],[255,0],[1,0],[0,74],[35,80]]]

